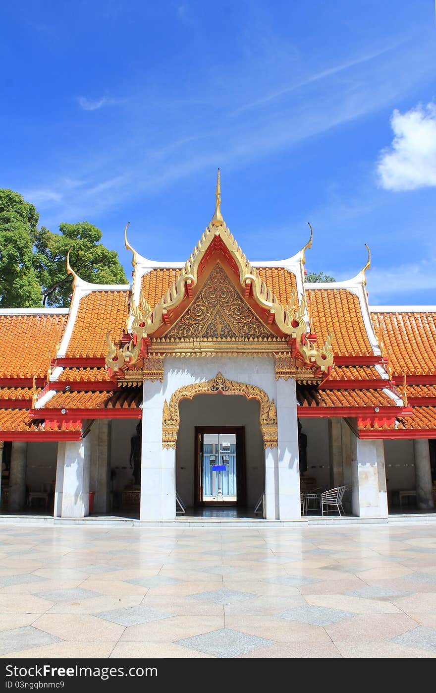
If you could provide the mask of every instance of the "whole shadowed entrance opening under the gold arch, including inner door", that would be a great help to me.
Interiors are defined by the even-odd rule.
[[[265,490],[259,401],[198,394],[180,401],[179,412],[176,491],[186,515],[254,516]]]

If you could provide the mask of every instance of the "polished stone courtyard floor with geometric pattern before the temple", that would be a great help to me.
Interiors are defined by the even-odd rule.
[[[436,531],[0,527],[2,658],[435,658]]]

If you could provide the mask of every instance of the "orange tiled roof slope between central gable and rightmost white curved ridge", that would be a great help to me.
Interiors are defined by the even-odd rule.
[[[309,315],[318,344],[333,335],[335,356],[373,356],[358,297],[347,289],[308,289]]]

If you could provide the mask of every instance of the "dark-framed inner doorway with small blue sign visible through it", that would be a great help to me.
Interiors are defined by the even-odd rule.
[[[195,427],[196,505],[239,505],[247,500],[245,427]]]

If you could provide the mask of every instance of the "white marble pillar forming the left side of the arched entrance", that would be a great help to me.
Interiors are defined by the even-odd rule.
[[[141,520],[175,519],[175,450],[162,448],[163,386],[143,384]]]

